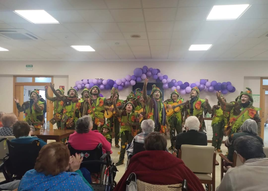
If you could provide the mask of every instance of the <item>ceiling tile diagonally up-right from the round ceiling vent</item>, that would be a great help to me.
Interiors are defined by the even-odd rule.
[[[172,31],[173,26],[173,21],[146,22],[148,32]]]

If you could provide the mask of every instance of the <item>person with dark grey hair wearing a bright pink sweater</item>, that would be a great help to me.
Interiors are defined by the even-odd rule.
[[[98,131],[92,131],[93,123],[90,115],[79,118],[76,122],[75,132],[70,135],[69,143],[76,150],[93,150],[99,143],[102,144],[102,151],[111,151],[111,143]]]

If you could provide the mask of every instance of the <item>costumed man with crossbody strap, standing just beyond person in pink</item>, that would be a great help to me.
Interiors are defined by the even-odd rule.
[[[110,106],[111,102],[106,98],[100,96],[101,90],[98,86],[93,86],[89,91],[89,99],[83,106],[83,116],[91,115],[93,120],[92,130],[101,131],[102,126],[105,124],[105,107]],[[109,109],[109,107],[107,107]],[[101,123],[101,126],[98,126]]]

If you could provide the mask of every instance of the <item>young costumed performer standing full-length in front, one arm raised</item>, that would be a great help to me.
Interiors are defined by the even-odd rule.
[[[117,115],[121,118],[121,128],[120,128],[120,138],[121,138],[121,149],[119,160],[116,163],[116,166],[124,164],[126,146],[132,142],[133,138],[137,135],[137,127],[139,126],[139,118],[142,118],[142,115],[135,112],[135,107],[132,102],[127,102],[122,111],[117,108],[117,97],[115,96],[116,91],[113,91],[113,106]]]

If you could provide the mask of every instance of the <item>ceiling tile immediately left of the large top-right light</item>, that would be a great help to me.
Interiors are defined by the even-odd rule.
[[[211,7],[178,7],[176,21],[206,20]]]

